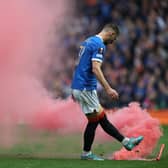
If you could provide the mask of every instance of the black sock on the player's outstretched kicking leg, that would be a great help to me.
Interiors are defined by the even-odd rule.
[[[99,123],[103,130],[111,135],[112,137],[116,138],[119,142],[122,142],[124,136],[120,134],[120,132],[115,128],[107,119],[106,115],[102,119],[99,120]]]

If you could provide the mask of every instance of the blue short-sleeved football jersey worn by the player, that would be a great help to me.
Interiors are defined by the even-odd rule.
[[[81,43],[79,51],[79,63],[76,66],[72,89],[95,90],[97,88],[97,79],[92,72],[92,61],[103,61],[105,45],[98,35],[89,37]]]

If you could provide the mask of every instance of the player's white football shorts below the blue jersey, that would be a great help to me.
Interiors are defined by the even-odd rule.
[[[97,96],[97,91],[87,91],[87,90],[72,90],[72,95],[74,99],[80,104],[82,111],[85,115],[92,113],[100,113],[102,111],[102,107],[99,103],[99,99]]]

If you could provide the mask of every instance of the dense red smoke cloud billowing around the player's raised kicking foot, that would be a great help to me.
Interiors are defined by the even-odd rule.
[[[118,110],[111,116],[111,121],[128,137],[144,136],[142,143],[131,152],[124,148],[114,152],[112,158],[115,160],[135,160],[147,157],[152,153],[162,135],[159,121],[140,108],[138,103],[130,103],[128,107]]]

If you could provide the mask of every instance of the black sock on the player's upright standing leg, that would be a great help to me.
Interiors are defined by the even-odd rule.
[[[84,151],[90,151],[99,122],[88,122],[84,132]]]

